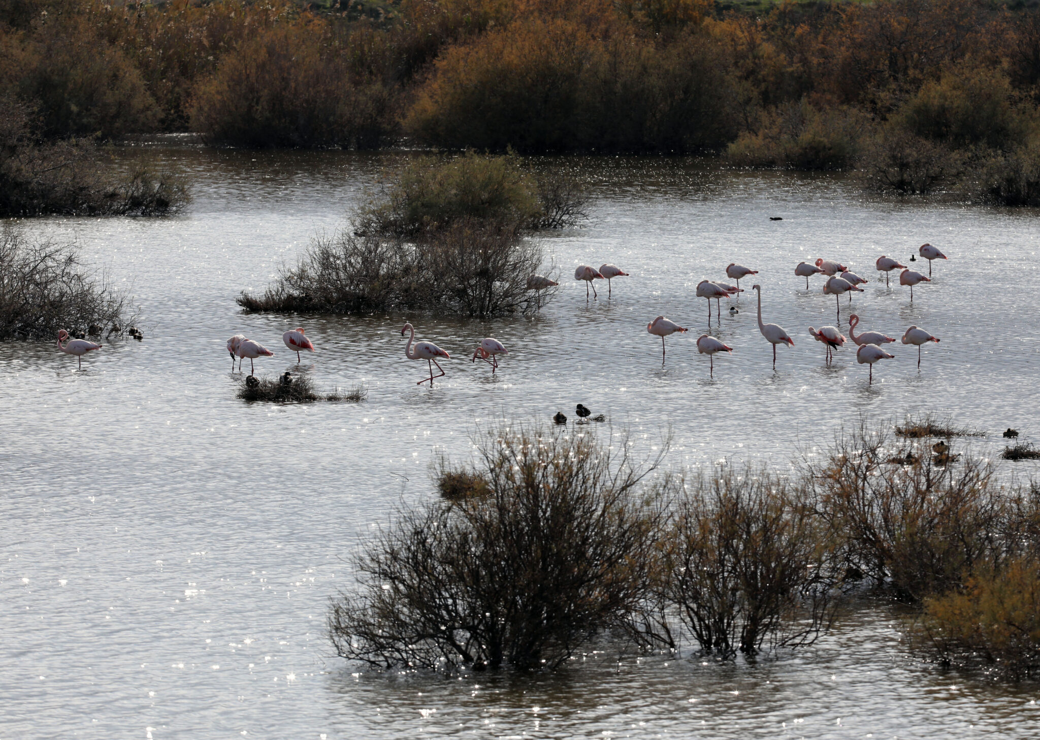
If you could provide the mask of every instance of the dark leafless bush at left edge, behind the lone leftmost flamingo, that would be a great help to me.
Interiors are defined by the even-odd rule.
[[[10,224],[0,231],[0,339],[120,333],[133,318],[126,296],[96,280],[73,245],[30,243]],[[92,330],[93,328],[93,330]]]

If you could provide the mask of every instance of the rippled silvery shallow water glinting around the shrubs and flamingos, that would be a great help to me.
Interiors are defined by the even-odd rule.
[[[891,203],[840,178],[691,160],[578,160],[594,184],[593,220],[546,237],[562,288],[537,317],[242,315],[234,297],[262,289],[313,234],[337,228],[399,155],[156,153],[191,179],[184,215],[26,226],[74,236],[135,297],[146,338],[107,343],[82,372],[53,343],[0,343],[0,737],[1040,733],[1035,686],[914,662],[882,606],[757,666],[619,664],[602,654],[538,678],[355,675],[323,632],[359,537],[397,503],[431,495],[431,461],[467,455],[473,431],[502,417],[544,422],[581,402],[615,432],[646,435],[647,448],[670,429],[669,461],[687,468],[727,458],[783,467],[861,414],[950,413],[990,433],[971,443],[987,456],[1008,426],[1034,439],[1035,212]],[[951,259],[911,303],[907,288],[877,281],[874,261],[906,261],[924,241]],[[915,349],[900,343],[874,385],[849,349],[824,366],[807,327],[834,324],[835,299],[821,294],[821,278],[806,291],[792,274],[817,256],[870,280],[852,301],[861,329],[900,337],[916,324],[942,339],[925,349],[919,371]],[[617,279],[617,296],[603,285],[587,301],[574,266],[605,261],[631,277]],[[764,320],[796,347],[778,350],[774,372],[754,294],[744,294],[731,302],[739,313],[724,302],[721,326],[712,315],[734,353],[717,358],[709,379],[695,343],[706,302],[694,288],[725,280],[733,261],[760,271],[742,287],[761,283]],[[927,274],[924,261],[914,266]],[[839,304],[844,330],[848,300]],[[664,366],[646,332],[659,313],[691,327],[669,337]],[[433,389],[416,385],[426,368],[404,357],[406,320],[452,355]],[[280,335],[301,325],[318,350],[304,372],[319,388],[364,383],[366,402],[234,398],[228,336],[274,350],[257,372],[275,374],[295,369]],[[468,361],[487,335],[510,349],[494,378]],[[1037,473],[1033,463],[1008,469]]]

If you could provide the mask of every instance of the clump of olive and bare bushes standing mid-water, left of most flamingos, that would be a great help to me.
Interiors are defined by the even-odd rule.
[[[566,174],[515,154],[426,156],[389,173],[347,224],[314,239],[246,311],[426,309],[489,316],[534,312],[528,287],[551,272],[537,231],[577,224],[587,196]],[[551,290],[551,288],[550,288]]]

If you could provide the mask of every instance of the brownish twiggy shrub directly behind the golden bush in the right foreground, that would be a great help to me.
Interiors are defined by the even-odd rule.
[[[999,562],[1008,499],[990,463],[970,454],[933,459],[925,443],[896,443],[888,429],[861,422],[843,430],[823,459],[805,459],[803,475],[846,533],[850,567],[919,602]]]

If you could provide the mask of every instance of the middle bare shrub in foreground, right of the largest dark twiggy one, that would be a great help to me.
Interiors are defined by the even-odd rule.
[[[838,548],[801,493],[764,469],[725,466],[697,479],[662,534],[643,641],[678,646],[677,617],[701,650],[731,658],[809,644],[829,628]]]

